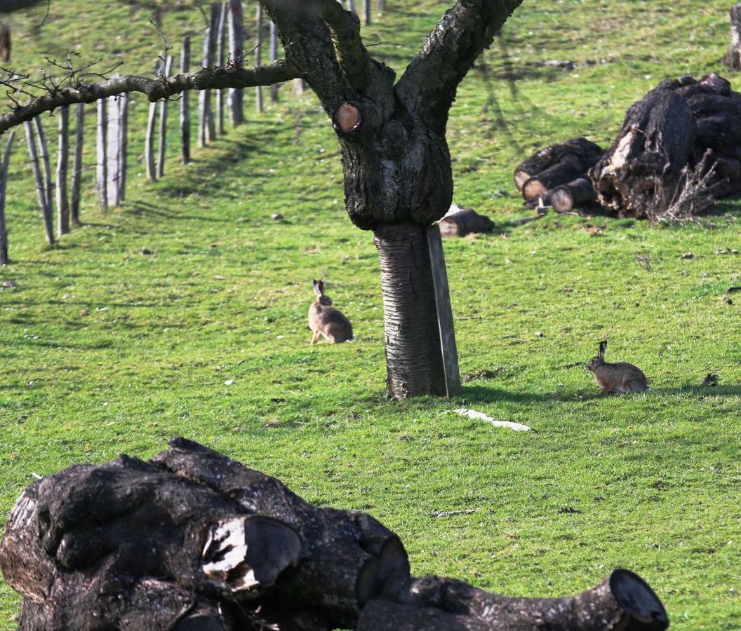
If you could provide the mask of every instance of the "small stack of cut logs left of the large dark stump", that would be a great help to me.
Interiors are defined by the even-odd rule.
[[[566,212],[596,199],[587,172],[601,157],[602,149],[594,142],[571,138],[545,147],[519,164],[514,181],[525,205],[533,207],[542,200],[543,204]]]

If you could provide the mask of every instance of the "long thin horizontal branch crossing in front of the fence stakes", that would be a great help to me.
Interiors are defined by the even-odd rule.
[[[158,79],[143,76],[122,76],[94,84],[77,84],[39,96],[26,105],[16,107],[0,116],[0,133],[25,121],[30,121],[44,112],[51,112],[62,105],[92,103],[107,96],[130,92],[141,92],[150,101],[167,99],[185,90],[223,90],[227,87],[242,88],[270,85],[290,81],[301,76],[286,61],[276,61],[259,68],[204,68],[197,73],[174,75]]]

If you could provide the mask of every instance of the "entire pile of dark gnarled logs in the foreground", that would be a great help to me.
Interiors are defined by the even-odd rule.
[[[662,630],[661,602],[615,570],[570,598],[413,578],[371,515],[314,507],[176,438],[150,461],[79,465],[25,490],[0,542],[20,631]]]

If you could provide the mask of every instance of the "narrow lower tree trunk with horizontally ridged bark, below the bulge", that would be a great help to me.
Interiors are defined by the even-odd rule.
[[[379,224],[386,333],[386,387],[397,399],[445,395],[430,253],[425,228]]]

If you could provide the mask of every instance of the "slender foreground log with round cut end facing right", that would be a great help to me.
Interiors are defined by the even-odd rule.
[[[661,631],[657,595],[638,575],[615,570],[597,587],[566,598],[508,598],[453,578],[415,578],[396,602],[366,605],[358,631]]]

